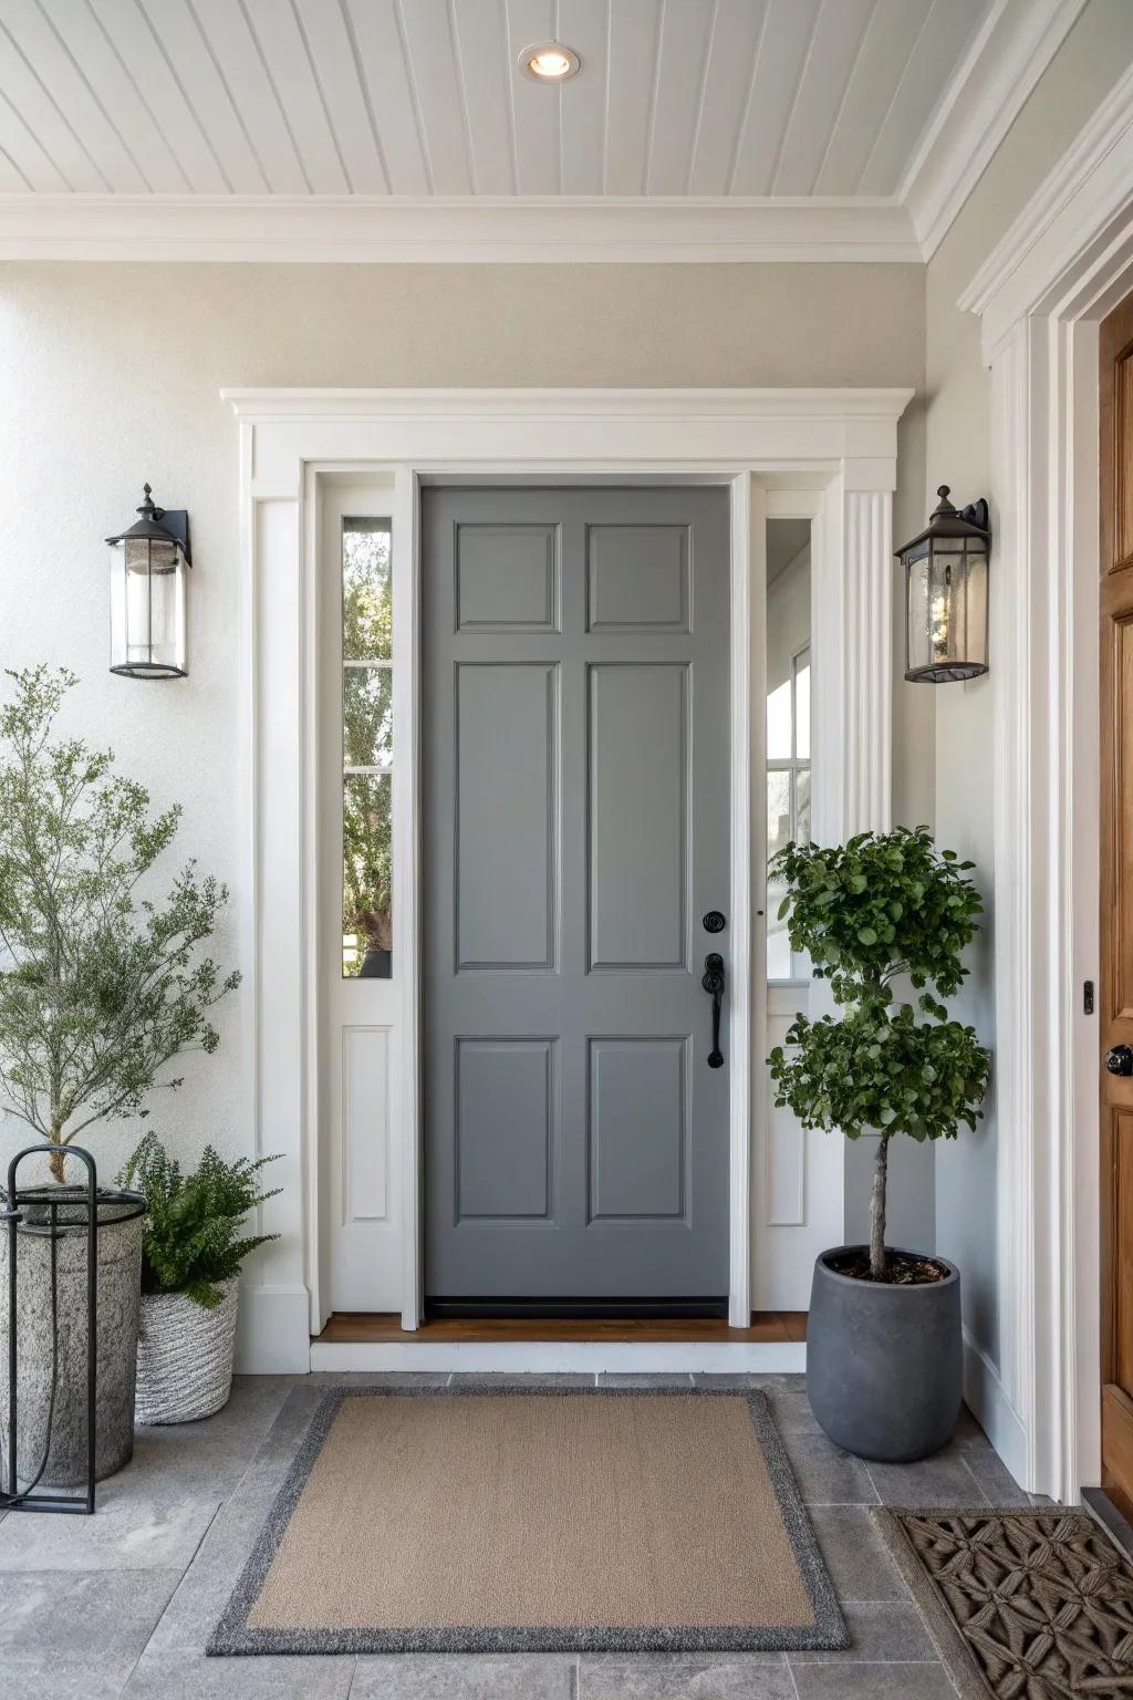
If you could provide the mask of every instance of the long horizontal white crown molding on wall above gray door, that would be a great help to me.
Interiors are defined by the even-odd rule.
[[[0,260],[921,258],[892,197],[0,196]]]

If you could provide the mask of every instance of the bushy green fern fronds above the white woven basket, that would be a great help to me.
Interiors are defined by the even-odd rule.
[[[200,1164],[183,1175],[156,1134],[146,1134],[119,1175],[119,1185],[136,1187],[146,1198],[146,1238],[141,1263],[143,1292],[183,1292],[211,1311],[221,1302],[221,1282],[238,1273],[256,1246],[279,1234],[240,1238],[245,1217],[280,1188],[260,1192],[258,1173],[277,1158],[238,1158],[226,1163],[206,1146]]]

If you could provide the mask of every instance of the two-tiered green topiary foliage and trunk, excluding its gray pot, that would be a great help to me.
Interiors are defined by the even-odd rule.
[[[829,979],[841,1020],[797,1015],[768,1057],[780,1108],[803,1127],[878,1132],[870,1205],[870,1273],[887,1275],[888,1141],[955,1139],[973,1129],[987,1093],[990,1052],[973,1027],[948,1020],[939,996],[960,989],[965,947],[984,913],[967,877],[972,862],[938,852],[926,826],[858,833],[844,845],[785,845],[769,876],[786,884],[780,918],[792,950]],[[893,1008],[907,978],[921,996]],[[931,986],[933,991],[926,988]]]

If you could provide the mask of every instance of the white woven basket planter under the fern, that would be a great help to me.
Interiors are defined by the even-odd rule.
[[[206,1311],[180,1292],[143,1294],[138,1329],[139,1423],[195,1423],[228,1404],[233,1389],[240,1278],[221,1282]]]

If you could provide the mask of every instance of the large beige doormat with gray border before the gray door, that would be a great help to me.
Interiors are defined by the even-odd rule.
[[[209,1652],[844,1647],[766,1399],[338,1389]]]

